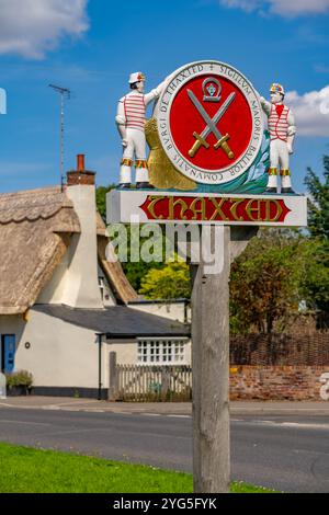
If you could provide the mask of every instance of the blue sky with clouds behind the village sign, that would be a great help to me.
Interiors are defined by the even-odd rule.
[[[128,75],[144,71],[151,89],[209,58],[238,68],[264,95],[273,81],[290,91],[298,123],[293,182],[304,191],[306,167],[321,172],[329,153],[328,22],[328,0],[0,0],[0,87],[8,92],[0,192],[59,182],[59,99],[49,83],[72,91],[66,170],[86,153],[98,184],[107,184],[118,175],[114,116]]]

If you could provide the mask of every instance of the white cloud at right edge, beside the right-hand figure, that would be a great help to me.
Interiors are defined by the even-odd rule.
[[[284,102],[294,112],[298,135],[329,137],[329,85],[304,95],[290,91]]]

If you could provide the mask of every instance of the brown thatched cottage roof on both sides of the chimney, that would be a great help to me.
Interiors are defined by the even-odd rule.
[[[136,299],[121,265],[103,263],[105,225],[97,215],[101,264],[120,301]],[[24,313],[80,232],[72,202],[59,187],[0,195],[0,314]],[[107,240],[106,240],[107,241]]]

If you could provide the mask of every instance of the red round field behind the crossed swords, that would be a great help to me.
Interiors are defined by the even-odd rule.
[[[230,157],[223,147],[214,147],[219,138],[213,131],[204,137],[208,148],[202,146],[194,157],[189,154],[196,141],[194,133],[202,135],[207,124],[191,101],[188,90],[211,118],[215,117],[230,93],[235,93],[227,111],[216,123],[220,136],[228,135],[227,145],[232,152]],[[213,73],[201,75],[186,82],[175,94],[170,111],[170,131],[179,152],[192,167],[208,171],[225,170],[239,161],[248,148],[252,136],[252,114],[242,90],[230,80]]]

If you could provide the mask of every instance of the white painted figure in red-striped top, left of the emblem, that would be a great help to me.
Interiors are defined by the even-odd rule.
[[[160,96],[164,82],[145,94],[145,76],[137,71],[131,75],[129,84],[132,91],[118,101],[115,117],[123,145],[120,187],[131,187],[134,157],[136,187],[154,187],[149,184],[146,161],[145,114],[147,105]]]

